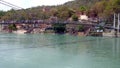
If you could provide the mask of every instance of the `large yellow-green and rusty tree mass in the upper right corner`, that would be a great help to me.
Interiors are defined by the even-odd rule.
[[[102,0],[93,5],[91,9],[97,16],[112,21],[113,14],[120,13],[120,0]]]

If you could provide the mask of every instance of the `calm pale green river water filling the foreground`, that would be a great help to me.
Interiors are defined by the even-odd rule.
[[[0,68],[120,68],[120,38],[1,33]]]

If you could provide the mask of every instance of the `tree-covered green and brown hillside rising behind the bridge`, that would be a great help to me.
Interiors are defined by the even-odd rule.
[[[78,12],[89,17],[112,20],[113,13],[120,13],[120,0],[74,0],[58,6],[40,6],[22,10],[0,11],[2,20],[45,20],[56,16],[60,20],[72,17],[78,20]]]

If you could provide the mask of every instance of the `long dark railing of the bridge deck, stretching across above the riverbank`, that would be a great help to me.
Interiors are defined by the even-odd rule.
[[[22,20],[22,21],[5,21],[0,22],[0,24],[54,24],[54,23],[64,23],[64,24],[84,24],[84,25],[96,25],[92,22],[79,22],[79,21],[46,21],[46,20]]]

